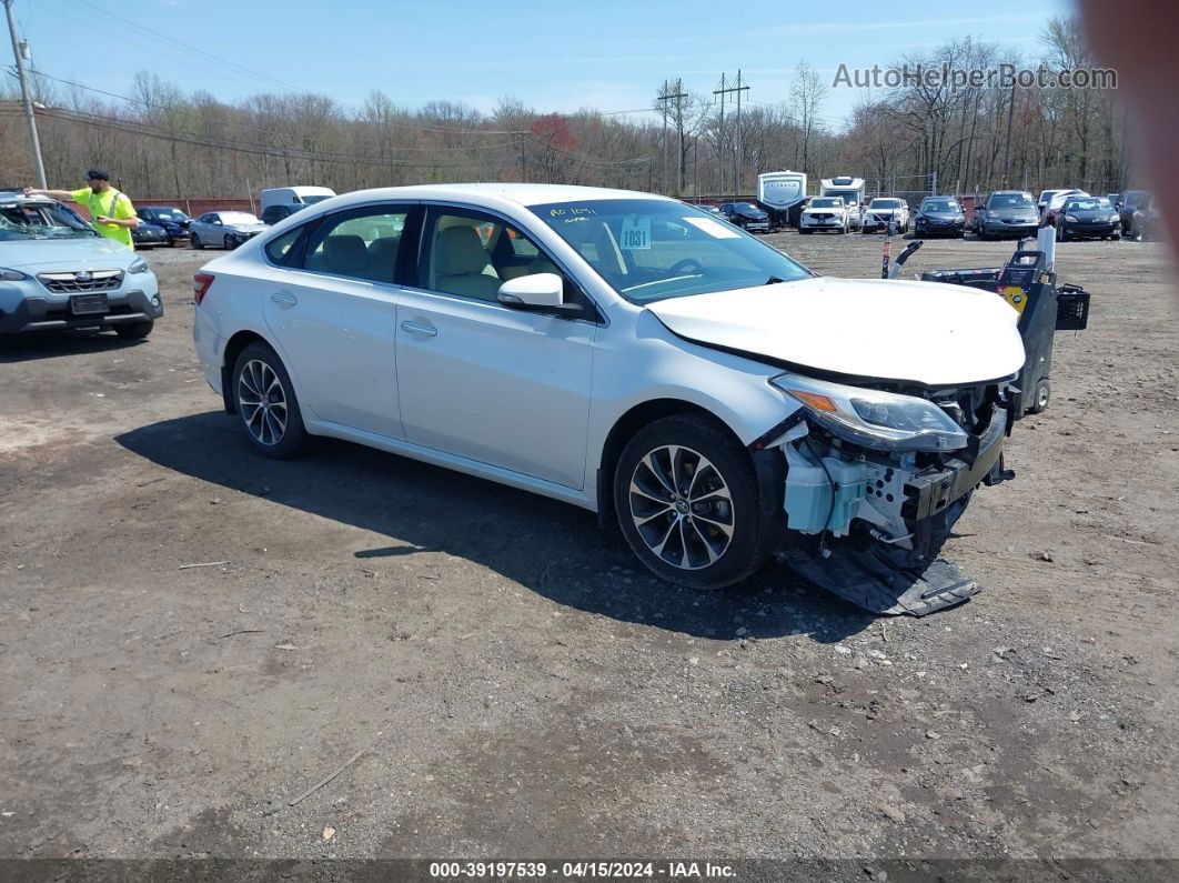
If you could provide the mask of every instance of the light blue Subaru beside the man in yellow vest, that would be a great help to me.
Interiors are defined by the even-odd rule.
[[[0,334],[113,329],[146,337],[163,315],[143,257],[61,203],[0,191]]]

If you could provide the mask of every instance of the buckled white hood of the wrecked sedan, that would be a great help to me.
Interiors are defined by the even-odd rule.
[[[1019,314],[997,295],[940,282],[818,277],[647,309],[690,341],[856,377],[946,387],[1023,365]]]

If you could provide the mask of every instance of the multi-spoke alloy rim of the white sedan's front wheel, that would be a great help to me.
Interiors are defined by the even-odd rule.
[[[733,538],[732,494],[699,452],[666,444],[634,467],[631,519],[647,548],[672,567],[698,571],[720,560]]]

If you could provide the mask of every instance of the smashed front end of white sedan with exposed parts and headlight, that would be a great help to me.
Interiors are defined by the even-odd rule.
[[[798,406],[751,446],[785,461],[779,556],[876,613],[923,615],[975,594],[938,552],[975,488],[1013,477],[1010,380],[931,389],[771,378]]]

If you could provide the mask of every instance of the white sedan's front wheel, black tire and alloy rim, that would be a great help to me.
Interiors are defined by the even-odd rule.
[[[614,472],[614,509],[635,556],[679,586],[731,586],[768,555],[753,463],[707,417],[665,417],[635,434]]]

